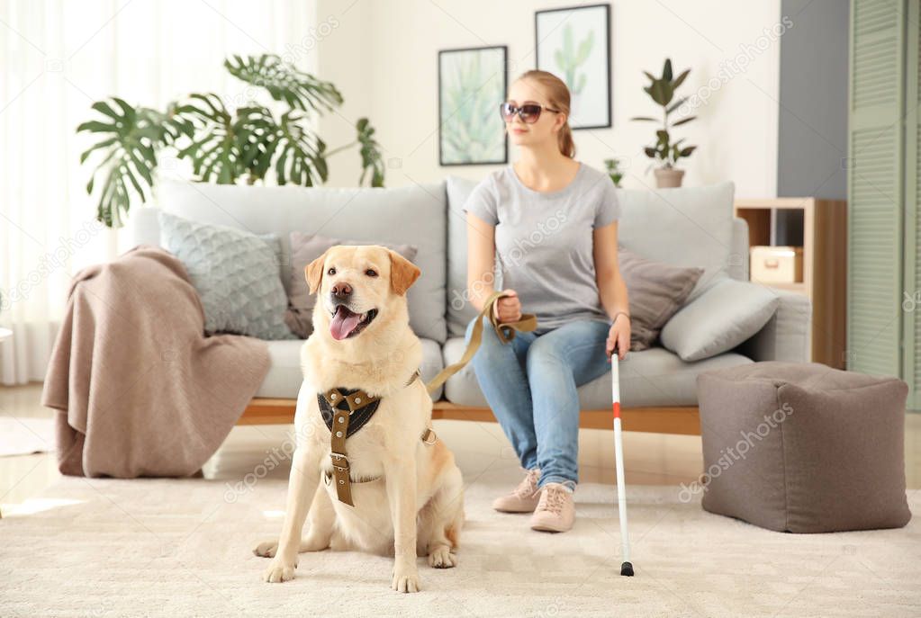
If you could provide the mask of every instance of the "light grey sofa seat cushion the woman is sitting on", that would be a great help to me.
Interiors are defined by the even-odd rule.
[[[449,338],[443,350],[445,366],[461,360],[464,349],[464,338]],[[697,362],[684,362],[673,352],[658,347],[629,352],[620,361],[621,402],[624,406],[633,407],[696,406],[698,373],[751,362],[751,359],[733,352]],[[611,372],[582,384],[577,392],[581,409],[609,409]],[[480,390],[472,364],[448,379],[445,397],[460,406],[486,406],[486,398]]]

